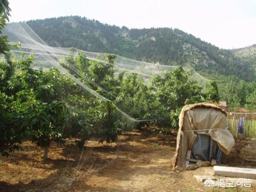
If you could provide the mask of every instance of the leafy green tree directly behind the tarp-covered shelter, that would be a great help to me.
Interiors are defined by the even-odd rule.
[[[163,77],[155,75],[152,86],[158,89],[156,95],[161,106],[157,113],[158,126],[166,127],[171,124],[173,128],[177,128],[181,108],[185,104],[204,101],[202,87],[190,81],[182,67],[165,72]]]

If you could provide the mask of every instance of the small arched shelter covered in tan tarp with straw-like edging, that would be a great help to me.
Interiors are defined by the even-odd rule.
[[[192,151],[190,158],[203,161],[217,159],[220,154],[218,150],[229,154],[234,146],[234,139],[228,131],[226,115],[223,109],[212,103],[197,103],[183,107],[179,117],[173,170],[186,168],[188,150]],[[208,136],[208,139],[202,134]]]

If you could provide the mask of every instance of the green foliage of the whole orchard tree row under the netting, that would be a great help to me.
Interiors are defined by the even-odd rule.
[[[156,75],[152,78],[152,85],[146,86],[137,74],[120,73],[116,77],[114,58],[106,54],[107,63],[101,63],[79,53],[60,61],[70,73],[91,89],[104,94],[109,101],[93,98],[57,69],[48,72],[33,70],[30,67],[35,59],[33,56],[14,59],[11,65],[2,60],[0,85],[4,92],[0,109],[7,113],[1,116],[6,122],[1,124],[1,130],[6,131],[8,127],[10,132],[5,133],[5,140],[1,141],[5,146],[1,149],[2,154],[8,154],[8,150],[13,151],[27,139],[46,147],[46,152],[52,141],[63,143],[65,138],[72,136],[81,139],[77,142],[80,148],[92,137],[98,138],[99,142],[115,142],[125,124],[116,105],[135,118],[150,119],[149,123],[160,127],[176,128],[182,106],[204,100],[202,87],[190,81],[182,67],[166,72],[162,77]],[[72,70],[71,65],[79,73]],[[7,76],[7,73],[11,75]],[[96,87],[96,82],[111,94],[102,92]],[[208,93],[216,94],[211,90]]]

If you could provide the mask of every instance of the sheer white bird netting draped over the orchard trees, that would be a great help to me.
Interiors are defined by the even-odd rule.
[[[34,70],[49,71],[52,68],[55,68],[61,74],[67,75],[75,83],[75,88],[73,88],[74,90],[78,89],[77,87],[79,86],[79,89],[83,90],[81,91],[81,94],[89,93],[89,95],[103,101],[111,101],[113,100],[111,98],[115,98],[116,95],[113,95],[108,88],[100,86],[95,79],[90,77],[90,75],[82,73],[81,70],[72,63],[72,58],[75,59],[82,53],[86,56],[88,62],[95,61],[102,65],[111,66],[116,75],[125,71],[126,73],[139,74],[145,79],[145,81],[155,74],[162,74],[165,71],[170,71],[176,68],[176,66],[165,66],[142,62],[118,55],[107,60],[104,53],[87,52],[75,48],[50,47],[26,23],[9,24],[3,30],[3,34],[8,35],[11,45],[17,45],[17,42],[20,43],[20,46],[16,46],[16,48],[13,48],[12,50],[15,57],[25,58],[27,55],[31,54],[35,56],[35,60],[31,62],[31,67]],[[200,84],[209,81],[189,67],[183,67],[183,69],[189,72],[190,79],[194,79]],[[81,78],[83,80],[81,80]],[[75,110],[78,106],[72,106],[72,103],[68,102],[68,90],[67,92],[61,92],[59,91],[60,88],[58,86],[58,83],[53,83],[53,87],[55,87],[54,89],[60,97],[66,98],[64,100],[67,106],[70,109]],[[48,95],[45,95],[45,97],[48,97]],[[129,113],[127,113],[127,111],[124,112],[124,110],[122,110],[122,106],[115,105],[115,107],[122,118],[129,120],[129,122],[143,122],[149,120],[134,118],[131,115],[128,115]]]

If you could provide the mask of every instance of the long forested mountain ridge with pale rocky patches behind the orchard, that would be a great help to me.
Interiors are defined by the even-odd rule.
[[[80,16],[30,20],[27,24],[53,47],[108,52],[161,65],[191,66],[216,79],[228,75],[247,81],[255,79],[255,51],[250,52],[253,59],[245,59],[244,55],[247,58],[250,54],[243,54],[243,49],[219,49],[179,29],[128,29]]]

